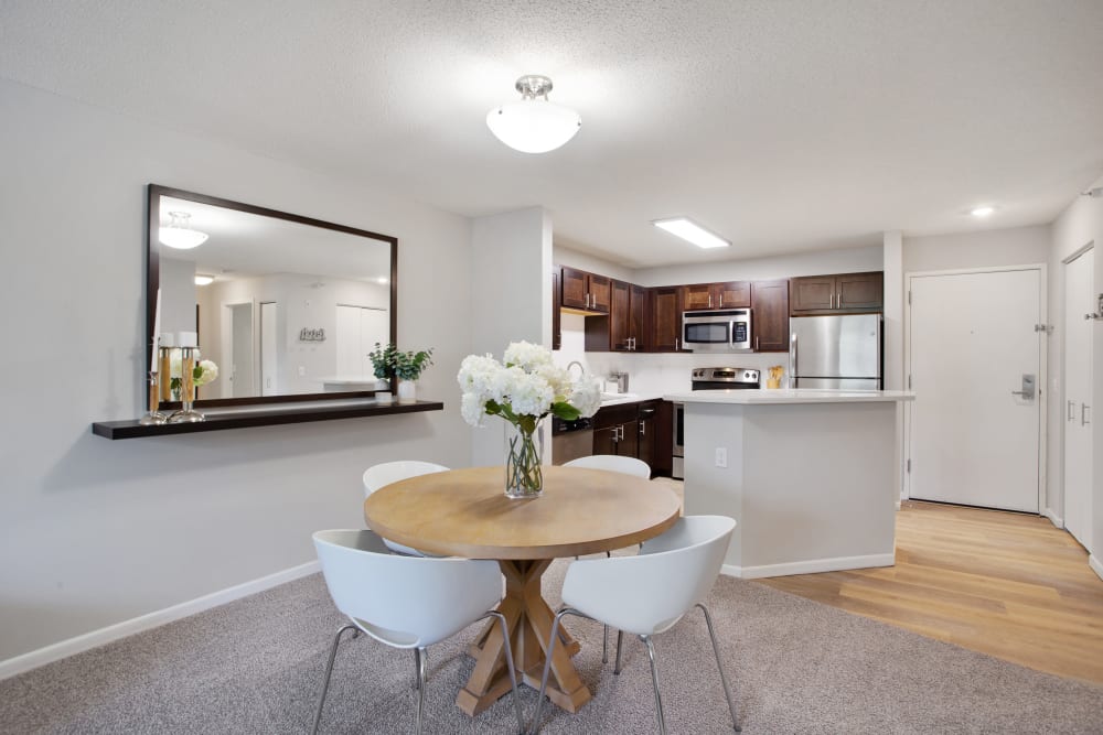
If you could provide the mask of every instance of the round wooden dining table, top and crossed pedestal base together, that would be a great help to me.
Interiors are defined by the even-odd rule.
[[[521,681],[538,689],[554,613],[540,594],[540,575],[558,556],[631,547],[658,536],[678,519],[668,488],[600,469],[544,467],[544,494],[505,496],[504,467],[472,467],[411,477],[364,501],[368,528],[398,543],[436,554],[494,559],[505,576],[499,610],[510,629]],[[578,641],[560,627],[552,658],[548,696],[577,712],[590,700],[571,656]],[[501,628],[491,621],[469,649],[475,668],[456,699],[475,715],[510,691]]]

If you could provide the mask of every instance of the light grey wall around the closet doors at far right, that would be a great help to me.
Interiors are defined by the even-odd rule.
[[[1103,177],[1092,186],[1103,185]],[[1049,404],[1049,476],[1050,486],[1060,502],[1056,510],[1064,512],[1064,266],[1063,261],[1089,242],[1095,245],[1095,283],[1094,293],[1103,292],[1103,258],[1100,257],[1100,246],[1103,245],[1103,198],[1081,196],[1069,205],[1052,226],[1052,245],[1049,251],[1049,323],[1054,325],[1049,341],[1049,376],[1050,394],[1060,400]],[[1096,404],[1103,397],[1103,322],[1094,322],[1092,334],[1092,401]],[[1095,412],[1099,415],[1099,412]],[[1103,431],[1092,432],[1092,457],[1103,457]],[[1103,467],[1099,462],[1093,465],[1092,473],[1092,547],[1096,560],[1096,571],[1103,572],[1099,565],[1101,545],[1103,545]],[[1103,576],[1103,573],[1100,574]]]

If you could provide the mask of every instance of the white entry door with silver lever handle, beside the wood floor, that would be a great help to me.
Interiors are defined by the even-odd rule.
[[[1041,284],[1040,267],[909,278],[910,497],[1038,512]]]

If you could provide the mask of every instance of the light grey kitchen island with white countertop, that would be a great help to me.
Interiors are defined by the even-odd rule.
[[[897,411],[914,393],[698,390],[685,404],[685,512],[738,521],[745,579],[891,566]]]

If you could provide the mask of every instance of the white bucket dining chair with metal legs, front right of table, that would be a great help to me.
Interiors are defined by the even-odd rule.
[[[716,666],[720,671],[720,683],[728,699],[731,723],[739,732],[736,704],[731,699],[728,679],[720,661],[720,647],[713,629],[713,617],[702,602],[707,595],[728,551],[736,521],[727,516],[686,516],[665,533],[645,541],[635,556],[613,556],[611,559],[586,559],[572,562],[567,568],[563,582],[564,606],[552,624],[547,661],[552,661],[558,630],[564,616],[576,615],[590,618],[618,628],[617,667],[621,671],[621,644],[624,631],[640,637],[651,660],[651,682],[655,689],[655,715],[658,732],[666,733],[663,716],[663,700],[658,690],[658,667],[652,636],[664,633],[682,617],[699,607],[705,614],[708,636],[713,640]],[[549,667],[544,666],[540,679],[540,695],[536,712],[529,724],[529,732],[539,727],[547,691]]]

